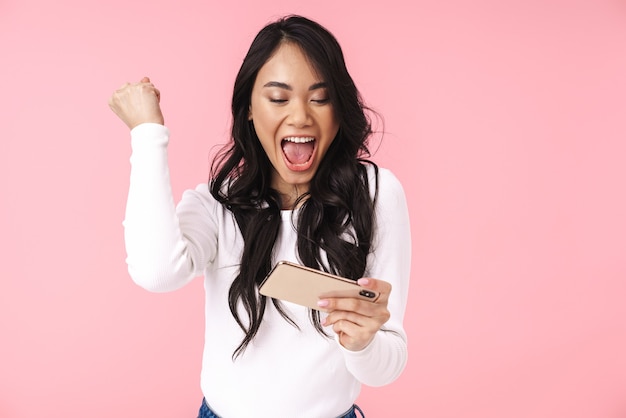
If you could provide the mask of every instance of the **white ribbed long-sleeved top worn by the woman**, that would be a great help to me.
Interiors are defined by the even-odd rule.
[[[379,170],[375,238],[365,274],[392,284],[391,318],[384,329],[365,349],[353,352],[336,338],[316,332],[307,308],[282,302],[298,330],[268,304],[256,337],[233,360],[244,334],[229,310],[228,290],[238,273],[243,239],[232,213],[213,198],[208,184],[185,191],[175,204],[168,141],[169,131],[162,125],[146,123],[131,131],[130,190],[123,223],[127,264],[132,279],[155,292],[204,278],[201,388],[211,409],[225,418],[330,418],[352,406],[361,384],[394,381],[407,361],[402,323],[411,259],[406,199],[396,177]],[[373,180],[374,171],[369,175]],[[297,213],[282,211],[275,261],[298,262],[293,215]],[[334,335],[331,328],[326,331]]]

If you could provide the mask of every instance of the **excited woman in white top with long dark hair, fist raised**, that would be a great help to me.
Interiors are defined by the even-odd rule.
[[[371,127],[339,44],[300,16],[263,28],[235,81],[232,139],[178,205],[159,99],[144,78],[110,100],[131,129],[127,262],[157,292],[204,276],[200,416],[356,417],[360,385],[406,363],[411,250],[400,183],[363,159]],[[258,285],[278,260],[381,296],[319,311],[268,300]]]

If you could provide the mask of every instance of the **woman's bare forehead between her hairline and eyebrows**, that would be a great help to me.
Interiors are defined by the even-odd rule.
[[[263,64],[255,84],[264,85],[270,81],[287,83],[294,87],[302,84],[308,88],[311,84],[324,80],[298,45],[285,42]]]

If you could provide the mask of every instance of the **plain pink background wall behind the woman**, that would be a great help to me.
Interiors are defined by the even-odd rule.
[[[340,40],[411,208],[410,360],[367,417],[626,417],[623,1],[210,3],[0,2],[0,417],[195,417],[202,283],[128,277],[107,100],[161,88],[179,198],[288,12]]]

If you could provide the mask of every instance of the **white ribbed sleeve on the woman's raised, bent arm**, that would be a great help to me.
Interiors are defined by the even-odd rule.
[[[131,174],[123,222],[126,262],[135,283],[153,292],[178,289],[201,275],[212,248],[206,245],[211,230],[206,226],[211,223],[206,212],[204,216],[177,213],[170,185],[168,142],[169,131],[163,125],[145,123],[131,131]],[[181,229],[181,225],[193,225],[198,219],[203,220],[196,228]]]

